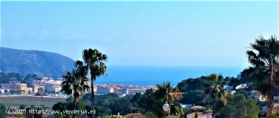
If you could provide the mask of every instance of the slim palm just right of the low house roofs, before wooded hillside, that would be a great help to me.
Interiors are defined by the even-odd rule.
[[[216,98],[219,98],[225,105],[227,104],[227,90],[224,87],[226,82],[223,76],[218,74],[211,74],[208,76],[208,79],[210,80],[210,84],[204,84],[206,88],[204,94],[213,99],[212,117],[214,118]]]

